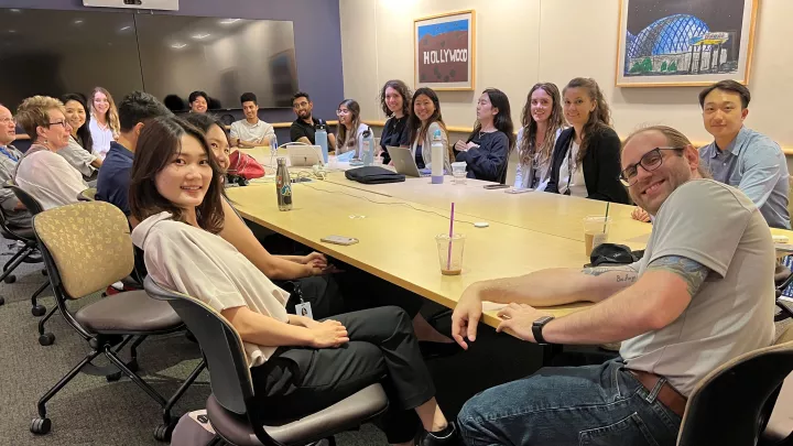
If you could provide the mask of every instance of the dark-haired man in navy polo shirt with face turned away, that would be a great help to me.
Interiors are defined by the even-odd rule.
[[[129,216],[129,182],[138,137],[148,120],[172,113],[154,96],[143,91],[124,96],[118,113],[121,132],[118,141],[110,142],[110,150],[99,170],[96,198],[116,205]]]

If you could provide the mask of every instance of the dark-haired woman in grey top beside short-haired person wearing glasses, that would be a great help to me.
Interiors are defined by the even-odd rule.
[[[83,174],[90,177],[101,166],[102,160],[91,153],[94,139],[90,134],[90,116],[86,112],[86,98],[79,93],[67,93],[61,96],[66,110],[66,120],[72,126],[72,137],[68,146],[58,150],[58,155]]]

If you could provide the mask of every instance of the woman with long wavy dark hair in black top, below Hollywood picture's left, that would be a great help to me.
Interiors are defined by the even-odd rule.
[[[391,156],[385,148],[406,148],[410,144],[408,117],[412,99],[413,93],[402,80],[389,80],[380,89],[380,107],[388,117],[382,134],[380,134],[383,164],[391,162]]]

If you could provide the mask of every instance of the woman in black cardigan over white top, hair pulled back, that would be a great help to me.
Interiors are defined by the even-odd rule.
[[[571,128],[556,140],[545,192],[629,204],[619,182],[621,142],[610,127],[611,112],[600,87],[594,79],[577,77],[563,96]]]

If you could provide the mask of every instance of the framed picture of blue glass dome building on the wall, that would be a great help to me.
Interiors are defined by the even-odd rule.
[[[749,81],[758,0],[620,0],[618,87]]]

